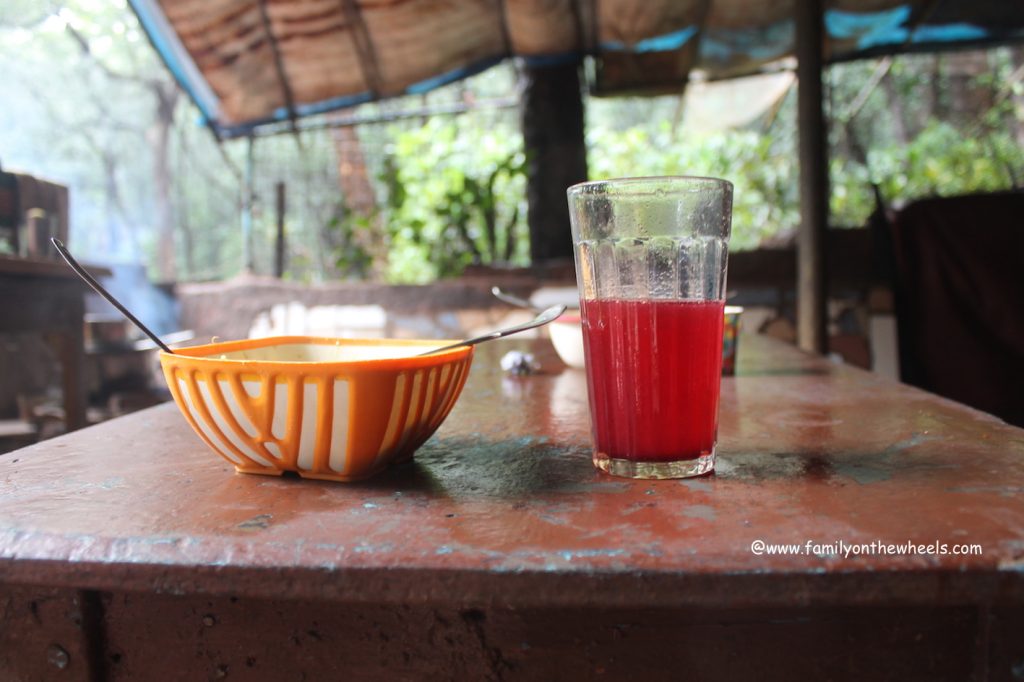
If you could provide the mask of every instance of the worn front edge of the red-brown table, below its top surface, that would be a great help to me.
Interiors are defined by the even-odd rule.
[[[594,568],[496,572],[438,567],[240,569],[0,557],[0,584],[176,596],[538,608],[1024,606],[1024,570],[997,566],[843,572],[623,572]]]

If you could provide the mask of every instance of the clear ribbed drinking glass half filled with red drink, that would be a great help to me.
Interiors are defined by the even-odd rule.
[[[732,184],[706,177],[568,189],[594,465],[684,478],[715,468]]]

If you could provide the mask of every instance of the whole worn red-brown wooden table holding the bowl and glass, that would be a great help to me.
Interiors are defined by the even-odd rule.
[[[234,475],[172,404],[0,458],[0,679],[1024,674],[1024,431],[746,337],[718,472],[617,479],[582,373],[478,353],[364,483]],[[982,554],[803,550],[839,541]]]

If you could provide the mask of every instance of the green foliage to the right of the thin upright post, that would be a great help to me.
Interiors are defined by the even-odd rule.
[[[897,206],[922,197],[1021,185],[1024,111],[1015,105],[1015,96],[1022,85],[1012,80],[1021,54],[992,50],[978,56],[984,71],[967,78],[946,73],[945,57],[938,55],[896,58],[855,120],[848,127],[835,126],[834,225],[866,221],[874,209],[871,184]],[[877,62],[864,61],[831,69],[834,119],[843,109],[835,102],[854,100],[876,68]],[[954,78],[961,79],[956,87]],[[852,146],[866,147],[866,159],[851,153]]]

